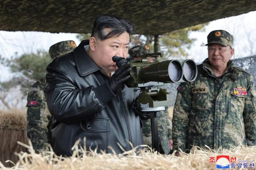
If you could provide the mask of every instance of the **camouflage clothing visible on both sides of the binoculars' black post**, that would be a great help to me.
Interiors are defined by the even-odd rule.
[[[143,140],[144,144],[152,147],[151,123],[150,119],[143,120]],[[157,120],[158,141],[165,154],[169,154],[170,146],[168,140],[172,139],[172,121],[168,115],[167,109],[162,111]]]

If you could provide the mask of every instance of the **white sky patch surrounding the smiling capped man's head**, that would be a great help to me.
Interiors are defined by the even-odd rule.
[[[202,63],[208,56],[207,35],[210,31],[224,29],[234,36],[235,53],[233,59],[256,54],[256,11],[239,16],[211,21],[204,32],[192,32],[190,37],[197,41],[189,51],[189,58]],[[252,51],[252,52],[251,52]]]

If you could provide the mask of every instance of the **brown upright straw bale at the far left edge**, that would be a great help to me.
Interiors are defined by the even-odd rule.
[[[17,144],[17,141],[28,143],[26,132],[26,114],[19,109],[0,111],[0,161],[19,160],[15,152],[26,151],[26,148]],[[5,166],[12,166],[4,163]]]

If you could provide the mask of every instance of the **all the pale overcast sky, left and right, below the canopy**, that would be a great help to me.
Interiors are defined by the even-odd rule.
[[[224,29],[234,36],[235,55],[233,58],[247,57],[256,53],[256,11],[239,16],[211,21],[204,32],[192,32],[190,37],[196,38],[189,53],[189,59],[201,63],[207,58],[207,35],[210,31]],[[44,33],[31,31],[0,31],[0,55],[10,58],[14,53],[30,53],[37,49],[45,49],[59,41],[74,40],[78,45],[75,33]],[[249,43],[251,42],[251,43]],[[10,77],[8,69],[1,66],[0,80]]]

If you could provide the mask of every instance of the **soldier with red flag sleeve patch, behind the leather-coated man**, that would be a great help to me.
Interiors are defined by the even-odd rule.
[[[74,41],[62,41],[52,45],[49,49],[50,57],[57,57],[72,52],[76,48]],[[48,150],[47,125],[50,121],[50,112],[44,98],[45,78],[34,83],[28,92],[27,134],[36,152]]]

